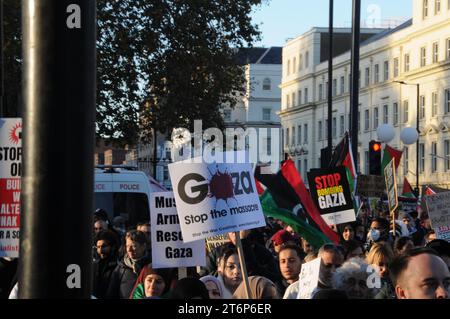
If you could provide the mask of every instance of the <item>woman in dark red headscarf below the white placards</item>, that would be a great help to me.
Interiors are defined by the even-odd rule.
[[[130,299],[165,298],[170,290],[175,272],[172,268],[142,268],[131,292]]]

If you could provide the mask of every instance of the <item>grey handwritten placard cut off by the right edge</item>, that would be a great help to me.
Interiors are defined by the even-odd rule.
[[[450,242],[450,192],[425,196],[425,202],[436,238]]]

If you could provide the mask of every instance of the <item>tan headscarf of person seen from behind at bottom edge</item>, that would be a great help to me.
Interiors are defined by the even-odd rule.
[[[280,299],[277,287],[266,277],[250,276],[248,277],[248,284],[250,286],[250,299]],[[244,282],[237,287],[233,298],[247,299]]]

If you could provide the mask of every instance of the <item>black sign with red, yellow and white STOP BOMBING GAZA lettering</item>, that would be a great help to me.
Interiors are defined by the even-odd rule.
[[[344,167],[311,170],[308,181],[311,197],[328,225],[356,220]]]

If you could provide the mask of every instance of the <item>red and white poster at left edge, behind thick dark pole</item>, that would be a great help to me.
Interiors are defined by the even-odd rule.
[[[0,257],[19,257],[22,119],[0,118]]]

